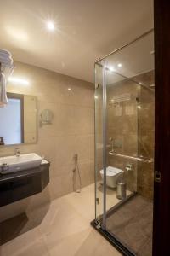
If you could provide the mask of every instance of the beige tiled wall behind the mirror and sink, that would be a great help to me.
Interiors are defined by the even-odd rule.
[[[37,96],[40,113],[54,113],[52,125],[38,125],[38,141],[20,145],[20,153],[36,152],[50,161],[50,183],[42,193],[0,208],[0,221],[70,193],[73,155],[78,154],[82,186],[94,183],[94,84],[15,62],[14,76],[29,85],[8,84],[8,92]],[[15,146],[1,147],[0,155],[14,154]]]

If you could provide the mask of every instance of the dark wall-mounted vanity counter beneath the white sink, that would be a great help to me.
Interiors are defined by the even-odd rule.
[[[49,183],[49,166],[0,175],[0,207],[42,192]]]

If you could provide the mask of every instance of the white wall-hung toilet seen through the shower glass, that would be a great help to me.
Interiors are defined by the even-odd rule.
[[[102,180],[104,179],[104,170],[100,170]],[[117,182],[122,178],[123,171],[121,169],[108,166],[106,168],[106,184],[108,187],[116,188]]]

